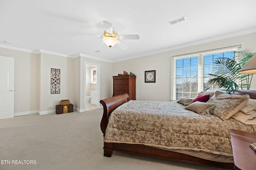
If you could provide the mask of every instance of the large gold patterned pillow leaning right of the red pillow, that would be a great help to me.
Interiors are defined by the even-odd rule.
[[[247,104],[249,98],[250,96],[248,94],[240,96],[215,92],[214,96],[207,103],[216,106],[213,115],[220,117],[222,120],[227,120],[242,109]]]

